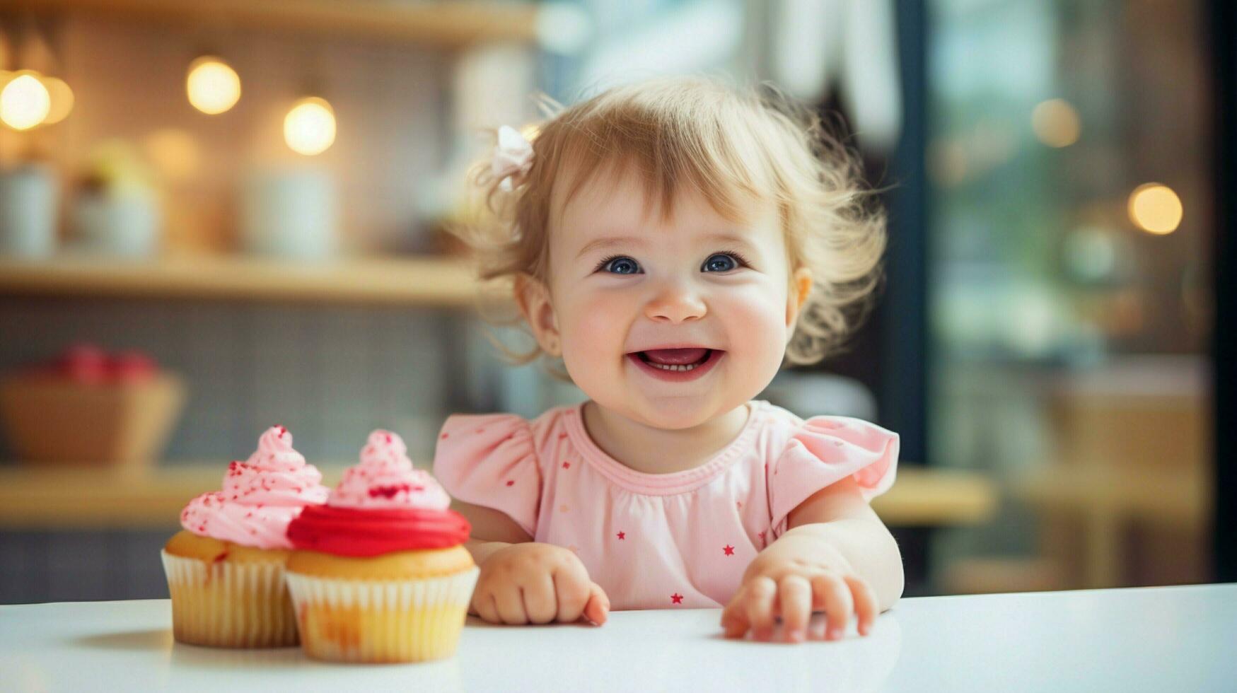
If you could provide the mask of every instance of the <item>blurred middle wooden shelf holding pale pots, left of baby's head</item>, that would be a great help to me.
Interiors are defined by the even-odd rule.
[[[468,306],[477,283],[434,257],[286,262],[228,256],[157,261],[0,260],[0,295]]]

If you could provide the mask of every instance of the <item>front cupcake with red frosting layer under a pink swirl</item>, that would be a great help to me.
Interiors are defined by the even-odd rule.
[[[480,570],[469,523],[400,436],[370,433],[325,505],[288,525],[288,589],[301,646],[335,662],[419,662],[455,653]]]

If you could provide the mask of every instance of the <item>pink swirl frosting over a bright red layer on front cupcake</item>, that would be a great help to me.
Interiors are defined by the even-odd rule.
[[[407,447],[390,431],[370,433],[361,462],[344,471],[323,506],[288,525],[297,548],[338,556],[447,548],[468,540],[468,520],[429,473],[413,469]]]

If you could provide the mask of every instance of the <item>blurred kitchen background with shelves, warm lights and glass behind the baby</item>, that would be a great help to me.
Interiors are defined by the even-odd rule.
[[[166,596],[266,426],[334,481],[583,398],[443,228],[482,129],[662,73],[774,82],[884,191],[880,306],[763,396],[903,436],[908,594],[1237,579],[1227,5],[0,0],[0,603]]]

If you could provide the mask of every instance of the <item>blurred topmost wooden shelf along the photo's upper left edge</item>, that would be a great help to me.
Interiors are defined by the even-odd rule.
[[[89,14],[226,31],[287,30],[458,48],[532,42],[538,7],[497,0],[0,0],[0,10]]]

